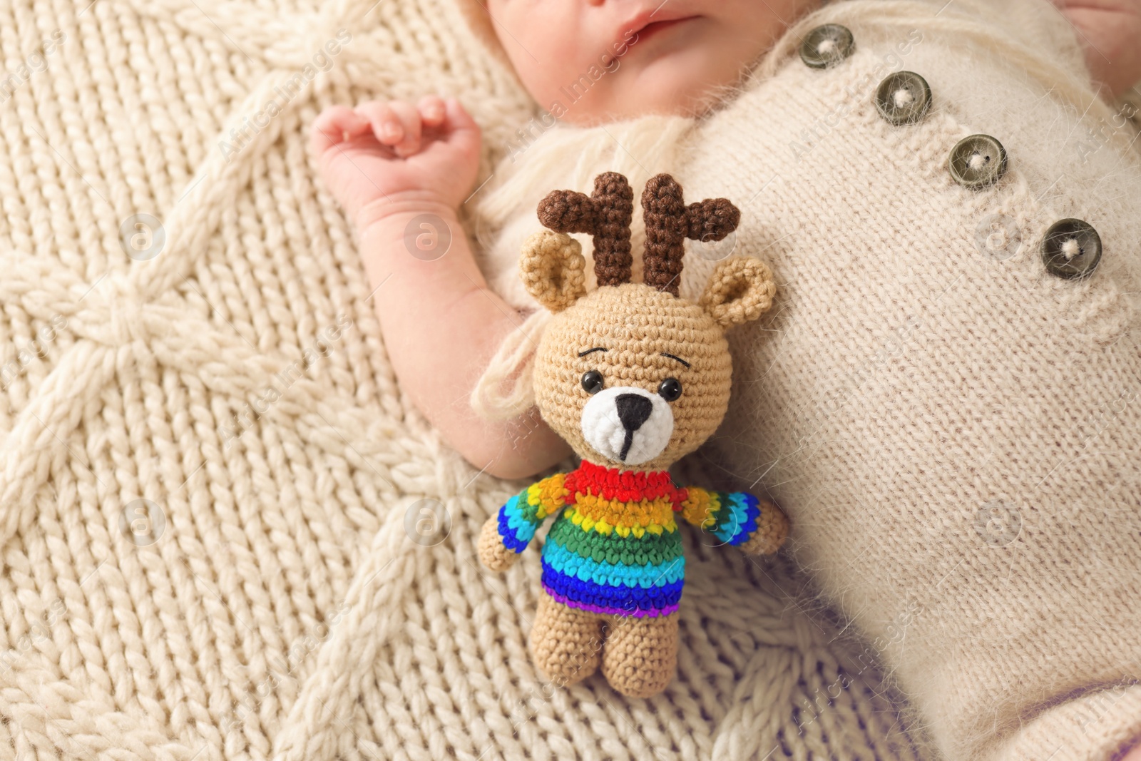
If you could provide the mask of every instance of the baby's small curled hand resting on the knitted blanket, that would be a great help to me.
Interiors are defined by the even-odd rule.
[[[459,208],[478,171],[479,127],[455,98],[371,100],[321,112],[309,149],[363,230],[393,210]]]

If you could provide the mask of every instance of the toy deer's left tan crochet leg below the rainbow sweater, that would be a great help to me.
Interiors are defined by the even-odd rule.
[[[531,630],[531,656],[551,681],[563,687],[598,670],[602,620],[597,613],[569,608],[547,590],[539,591],[539,612]]]

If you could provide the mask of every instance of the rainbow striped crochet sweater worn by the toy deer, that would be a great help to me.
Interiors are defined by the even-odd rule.
[[[503,544],[523,552],[559,513],[543,544],[543,589],[593,613],[664,616],[678,609],[686,559],[673,513],[728,544],[747,542],[760,505],[746,492],[679,488],[669,471],[634,472],[583,460],[516,494],[499,511]]]

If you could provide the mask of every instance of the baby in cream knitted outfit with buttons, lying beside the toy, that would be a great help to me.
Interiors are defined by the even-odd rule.
[[[535,204],[604,171],[729,197],[741,226],[690,249],[681,294],[750,254],[777,296],[727,334],[707,460],[784,508],[946,758],[1141,761],[1141,161],[1119,97],[1141,0],[483,13],[547,118],[486,187],[455,97],[332,106],[311,132],[422,414],[494,476],[567,459],[526,388]],[[496,418],[472,391],[500,381]]]

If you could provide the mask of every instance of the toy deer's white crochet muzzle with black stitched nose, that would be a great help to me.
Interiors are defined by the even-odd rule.
[[[615,386],[593,395],[582,410],[582,435],[594,450],[628,464],[652,460],[673,436],[673,411],[657,394]]]

